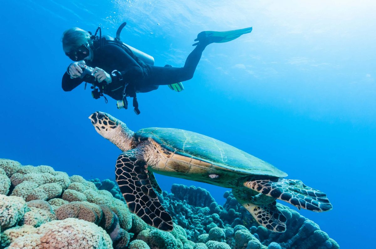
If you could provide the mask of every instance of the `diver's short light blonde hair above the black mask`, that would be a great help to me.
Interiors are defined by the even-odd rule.
[[[92,44],[89,32],[83,29],[74,27],[64,31],[61,42],[63,43],[64,52],[71,52],[79,48],[82,44]]]

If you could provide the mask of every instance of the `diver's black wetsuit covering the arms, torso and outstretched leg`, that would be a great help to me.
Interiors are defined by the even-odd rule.
[[[119,76],[111,76],[112,82],[106,85],[104,91],[113,99],[121,100],[125,85],[127,85],[126,93],[132,96],[135,92],[146,93],[156,90],[159,85],[170,85],[191,79],[204,49],[205,46],[198,45],[188,55],[184,67],[156,67],[136,62],[121,47],[114,44],[106,44],[102,48],[92,50],[94,51],[93,60],[85,62],[90,67],[102,68],[110,75],[114,70],[121,73],[123,80],[120,80]],[[64,91],[71,91],[83,81],[80,78],[71,79],[70,75],[65,72],[62,78],[62,88]],[[102,88],[105,83],[103,81],[95,84]]]

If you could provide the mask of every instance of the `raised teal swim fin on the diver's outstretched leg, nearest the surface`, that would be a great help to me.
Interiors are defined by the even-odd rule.
[[[194,40],[198,41],[198,43],[195,43],[192,46],[196,46],[198,44],[208,45],[211,43],[227,43],[227,41],[232,41],[243,34],[250,33],[251,31],[252,27],[221,32],[203,31],[199,33],[197,35],[197,39]]]

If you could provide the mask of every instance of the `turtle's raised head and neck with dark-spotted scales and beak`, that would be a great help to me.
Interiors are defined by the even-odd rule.
[[[102,137],[110,140],[122,151],[130,150],[134,132],[125,123],[105,112],[96,111],[89,116],[92,125]]]

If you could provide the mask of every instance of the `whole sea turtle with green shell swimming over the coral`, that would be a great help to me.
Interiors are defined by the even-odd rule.
[[[123,151],[116,161],[116,181],[129,210],[150,226],[172,231],[171,216],[159,203],[154,173],[232,188],[255,220],[274,232],[286,230],[276,199],[298,209],[321,212],[332,205],[321,191],[229,144],[191,131],[146,128],[133,132],[104,112],[89,116],[96,131]]]

